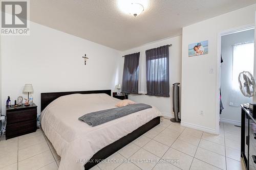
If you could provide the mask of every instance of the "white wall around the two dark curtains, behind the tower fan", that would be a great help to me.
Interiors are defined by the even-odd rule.
[[[157,42],[148,43],[132,50],[128,50],[123,52],[123,55],[132,54],[132,53],[145,53],[146,50],[151,48],[156,48],[159,46],[173,44],[169,47],[169,85],[170,85],[170,97],[158,97],[158,96],[150,96],[150,95],[129,95],[129,99],[138,103],[145,103],[149,105],[153,105],[157,107],[163,115],[168,117],[174,117],[173,115],[173,83],[180,82],[181,83],[181,43],[182,36],[177,36],[173,38],[164,39]],[[124,59],[123,59],[124,60]],[[123,61],[121,62],[121,66],[123,67]]]

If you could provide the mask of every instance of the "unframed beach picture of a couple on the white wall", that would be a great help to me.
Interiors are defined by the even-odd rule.
[[[208,54],[208,40],[188,45],[188,57]]]

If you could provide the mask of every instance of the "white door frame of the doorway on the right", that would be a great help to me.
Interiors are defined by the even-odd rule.
[[[251,30],[255,28],[255,24],[251,23],[249,25],[228,29],[221,31],[217,34],[217,60],[216,60],[216,130],[217,134],[220,133],[220,87],[221,87],[221,37],[229,34],[239,33],[246,30]],[[256,35],[254,34],[254,37]],[[255,38],[254,38],[255,39]],[[255,50],[254,50],[255,57]],[[255,70],[255,67],[254,67]]]

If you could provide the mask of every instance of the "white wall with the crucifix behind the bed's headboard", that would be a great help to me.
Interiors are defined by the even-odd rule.
[[[41,92],[114,89],[119,60],[117,50],[30,22],[29,36],[2,37],[2,112],[8,95],[12,104],[27,96],[25,83],[33,84],[38,114]]]

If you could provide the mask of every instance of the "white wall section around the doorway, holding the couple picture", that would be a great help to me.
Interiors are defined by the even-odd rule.
[[[254,24],[256,4],[210,18],[183,28],[182,31],[182,125],[219,133],[217,111],[220,61],[217,39],[219,33]],[[207,55],[188,57],[188,44],[208,40]],[[214,73],[209,74],[213,68]],[[203,111],[203,115],[200,112]]]

